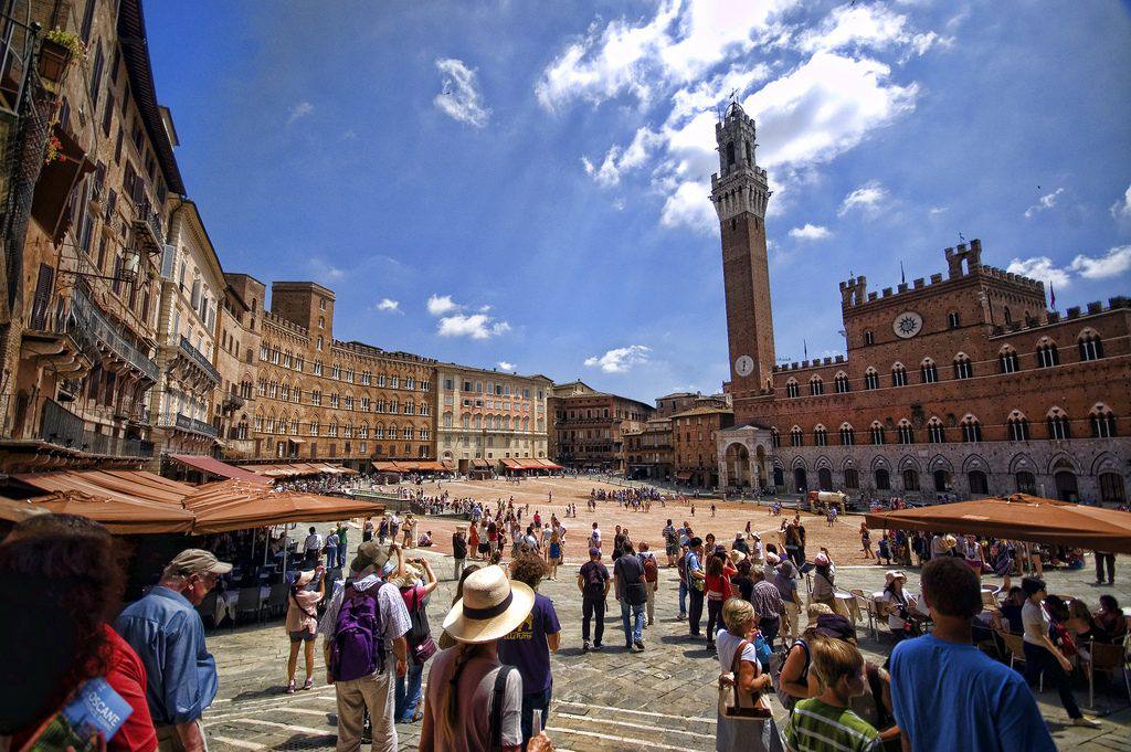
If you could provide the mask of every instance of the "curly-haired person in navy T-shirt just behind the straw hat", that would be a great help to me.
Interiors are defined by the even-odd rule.
[[[562,626],[553,600],[538,593],[546,565],[536,554],[521,554],[510,564],[510,580],[524,582],[534,591],[530,615],[499,642],[499,659],[518,668],[523,676],[523,744],[530,740],[534,711],[542,712],[542,723],[550,718],[553,676],[550,654],[561,646]]]

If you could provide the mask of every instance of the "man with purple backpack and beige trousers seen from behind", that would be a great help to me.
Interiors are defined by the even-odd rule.
[[[403,561],[396,543],[392,550]],[[412,622],[397,589],[381,579],[386,560],[381,546],[372,542],[357,546],[349,578],[337,587],[318,624],[328,680],[337,695],[337,752],[361,749],[365,710],[373,724],[373,751],[397,749],[395,680],[408,671],[405,633]]]

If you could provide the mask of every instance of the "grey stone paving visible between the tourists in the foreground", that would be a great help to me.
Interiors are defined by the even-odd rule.
[[[556,492],[554,501],[558,501]],[[532,513],[533,510],[534,505]],[[546,515],[546,509],[542,511]],[[602,526],[608,525],[611,528],[614,524],[611,521],[612,517],[606,517],[604,512],[605,510],[598,509]],[[612,509],[608,513],[612,513]],[[760,517],[765,516],[766,511],[756,510],[753,513]],[[649,531],[655,528],[655,539],[658,539],[658,530],[667,516],[682,517],[659,508],[654,508],[650,515],[623,511],[616,515],[628,515],[634,520],[632,525],[638,528],[647,528]],[[709,516],[709,511],[707,515]],[[724,512],[720,511],[719,515]],[[702,533],[715,529],[720,537],[726,533],[733,535],[734,529],[741,529],[741,526],[734,527],[737,512],[727,512],[726,517],[725,526],[713,525],[711,522],[717,520],[708,518],[701,519],[697,529],[701,528]],[[697,518],[700,518],[698,510]],[[767,517],[767,519],[772,520],[776,529],[777,518]],[[860,519],[848,516],[838,522],[838,528],[832,533],[820,535],[853,541]],[[447,522],[440,520],[430,519],[428,522],[422,529],[430,526],[447,527]],[[430,525],[432,522],[434,525]],[[573,520],[572,527],[580,529],[582,525],[586,525],[585,515],[579,520]],[[814,533],[824,529],[822,519],[812,518],[809,525]],[[639,539],[638,535],[633,537]],[[351,535],[351,548],[356,546],[360,538],[360,531]],[[839,547],[845,548],[849,545],[844,543]],[[451,602],[454,593],[451,557],[438,551],[417,551],[433,560],[437,573],[443,580],[433,596],[429,614],[433,633],[439,634],[446,606]],[[619,610],[612,598],[610,599],[612,610],[605,621],[606,649],[602,652],[584,654],[580,636],[580,594],[576,584],[579,555],[580,552],[575,546],[568,555],[567,565],[559,570],[559,579],[545,581],[539,588],[541,593],[553,599],[562,623],[562,647],[552,658],[554,697],[546,723],[547,733],[552,736],[555,747],[673,751],[714,749],[718,663],[707,652],[702,641],[692,641],[687,637],[687,623],[675,619],[679,582],[675,570],[661,568],[656,623],[645,632],[647,650],[644,654],[636,655],[623,649]],[[838,585],[861,587],[865,591],[878,590],[883,586],[884,570],[882,567],[854,564],[849,560],[849,563],[840,567]],[[1103,591],[1111,591],[1122,603],[1131,603],[1131,587],[1128,584],[1121,582],[1114,588],[1096,588],[1090,584],[1089,574],[1089,569],[1077,572],[1048,572],[1050,590],[1076,594],[1089,603],[1097,600]],[[908,588],[912,591],[917,590],[917,570],[910,570],[908,576]],[[706,621],[706,614],[703,619]],[[865,655],[877,663],[882,663],[890,652],[890,640],[875,640],[869,633],[866,624],[861,626],[858,632],[861,648]],[[205,716],[210,749],[329,750],[334,747],[336,741],[334,689],[322,683],[325,669],[320,642],[316,664],[318,683],[313,690],[300,691],[294,695],[285,694],[283,689],[287,639],[280,620],[261,625],[214,630],[209,633],[208,645],[216,655],[221,677],[217,701]],[[301,681],[300,659],[300,684]],[[1088,705],[1086,688],[1077,689],[1077,699],[1082,707]],[[1038,700],[1061,749],[1076,749],[1080,752],[1131,749],[1131,710],[1128,709],[1125,692],[1122,695],[1117,692],[1111,694],[1097,692],[1098,709],[1102,712],[1113,711],[1103,718],[1104,727],[1099,731],[1068,726],[1067,714],[1060,706],[1055,692],[1045,691]],[[776,700],[774,703],[778,714],[783,714]],[[398,732],[400,749],[416,749],[418,724],[400,725]]]

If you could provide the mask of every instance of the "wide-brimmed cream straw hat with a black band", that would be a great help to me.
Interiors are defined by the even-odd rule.
[[[493,642],[515,631],[534,607],[534,590],[510,581],[501,567],[478,569],[464,580],[464,597],[443,620],[443,631],[458,642]]]

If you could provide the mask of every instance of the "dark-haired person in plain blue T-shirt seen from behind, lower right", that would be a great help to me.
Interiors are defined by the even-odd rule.
[[[1055,752],[1025,678],[974,646],[978,578],[961,559],[923,567],[934,631],[891,652],[891,703],[912,752]]]

